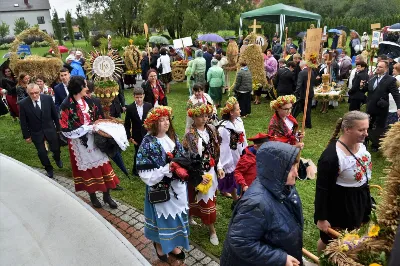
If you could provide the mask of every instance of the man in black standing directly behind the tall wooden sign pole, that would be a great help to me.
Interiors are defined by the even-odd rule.
[[[304,111],[304,105],[306,101],[306,91],[307,91],[307,80],[308,80],[308,68],[305,61],[300,62],[301,71],[297,78],[296,92],[294,95],[297,98],[297,102],[293,106],[292,115],[296,118],[300,113]],[[312,128],[311,125],[311,105],[312,98],[314,98],[314,86],[315,86],[315,73],[311,71],[310,80],[310,91],[308,94],[308,104],[307,104],[307,117],[306,117],[306,128]]]

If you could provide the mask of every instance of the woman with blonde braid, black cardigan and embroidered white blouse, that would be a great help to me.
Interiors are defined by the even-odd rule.
[[[371,155],[363,142],[369,117],[360,111],[346,113],[318,161],[314,221],[320,230],[318,252],[329,240],[328,228],[353,230],[369,221],[372,204],[368,180]],[[342,135],[337,139],[339,132]]]

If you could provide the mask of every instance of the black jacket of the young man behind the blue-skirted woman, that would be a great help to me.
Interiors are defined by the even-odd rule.
[[[143,116],[142,120],[140,120],[136,103],[128,105],[125,116],[125,130],[128,139],[133,138],[137,143],[142,142],[143,137],[147,134],[147,130],[143,127],[143,121],[146,119],[147,113],[151,108],[153,106],[150,103],[143,103]]]

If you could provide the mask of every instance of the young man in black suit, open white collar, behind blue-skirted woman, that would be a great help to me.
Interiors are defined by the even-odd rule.
[[[143,137],[147,134],[147,130],[143,127],[143,121],[146,119],[147,113],[152,108],[152,105],[150,103],[143,102],[144,91],[142,88],[134,89],[133,96],[135,98],[135,102],[128,105],[126,108],[125,130],[128,140],[135,145],[132,173],[137,175],[136,156],[140,143],[142,143]]]

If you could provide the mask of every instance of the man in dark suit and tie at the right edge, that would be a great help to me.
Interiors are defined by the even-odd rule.
[[[367,113],[370,115],[368,129],[371,140],[371,151],[377,152],[379,140],[385,132],[386,120],[389,114],[389,93],[392,94],[397,105],[397,115],[400,117],[400,93],[396,86],[396,79],[387,74],[389,65],[387,61],[380,61],[376,66],[376,75],[364,85],[363,91],[368,91]]]

